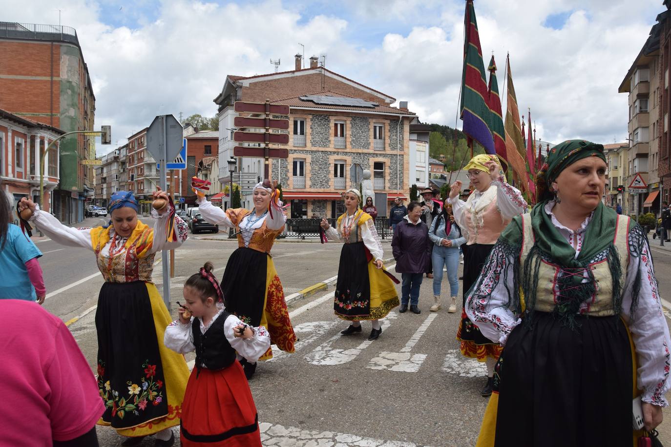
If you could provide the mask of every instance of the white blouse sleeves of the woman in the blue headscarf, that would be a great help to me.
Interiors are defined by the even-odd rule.
[[[30,222],[34,222],[36,227],[42,231],[42,233],[61,245],[81,247],[93,251],[90,228],[67,227],[60,223],[60,221],[55,216],[52,216],[52,214],[40,210],[40,207],[37,204],[35,205],[35,208],[36,211],[30,218]],[[174,229],[177,233],[177,240],[174,242],[166,241],[168,236],[166,233],[166,218],[168,218],[168,215],[168,212],[158,214],[156,210],[152,209],[152,217],[155,218],[156,221],[154,222],[154,240],[152,247],[148,250],[148,255],[157,253],[161,250],[176,249],[187,240],[187,237],[189,236],[187,224],[180,218],[180,216],[175,215]],[[112,226],[110,225],[110,227]],[[113,235],[101,250],[101,255],[106,257],[109,254],[109,247],[111,247],[112,241],[115,240],[115,245],[120,247],[125,243],[126,239],[127,237]]]

